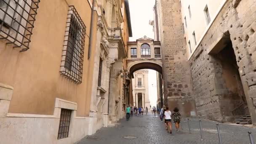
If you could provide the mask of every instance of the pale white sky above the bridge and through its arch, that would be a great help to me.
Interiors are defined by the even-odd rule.
[[[129,41],[136,41],[146,35],[154,39],[153,26],[149,25],[149,20],[153,20],[153,7],[155,0],[129,0],[131,27],[133,37]],[[157,102],[157,81],[156,71],[149,69],[149,101],[151,107],[156,107]]]

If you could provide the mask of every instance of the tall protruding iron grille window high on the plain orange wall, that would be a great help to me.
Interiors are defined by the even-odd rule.
[[[82,83],[85,29],[75,7],[69,6],[60,72],[77,84]]]

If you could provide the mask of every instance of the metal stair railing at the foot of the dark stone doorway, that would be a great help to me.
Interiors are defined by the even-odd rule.
[[[232,114],[234,115],[235,122],[243,119],[245,117],[246,122],[250,123],[250,119],[248,119],[248,116],[250,116],[250,112],[248,109],[248,106],[246,103],[240,104],[237,108],[232,110]]]

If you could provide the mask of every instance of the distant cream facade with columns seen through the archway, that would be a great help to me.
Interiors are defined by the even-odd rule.
[[[148,70],[142,69],[133,73],[133,106],[150,108]]]

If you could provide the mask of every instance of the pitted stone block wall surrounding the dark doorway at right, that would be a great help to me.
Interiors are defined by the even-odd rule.
[[[192,58],[192,79],[194,84],[197,114],[213,120],[232,120],[227,96],[230,88],[224,76],[224,67],[216,54],[224,48],[219,42],[230,34],[235,51],[241,83],[246,101],[256,124],[256,0],[228,0],[200,42]],[[229,36],[228,36],[229,37]]]

